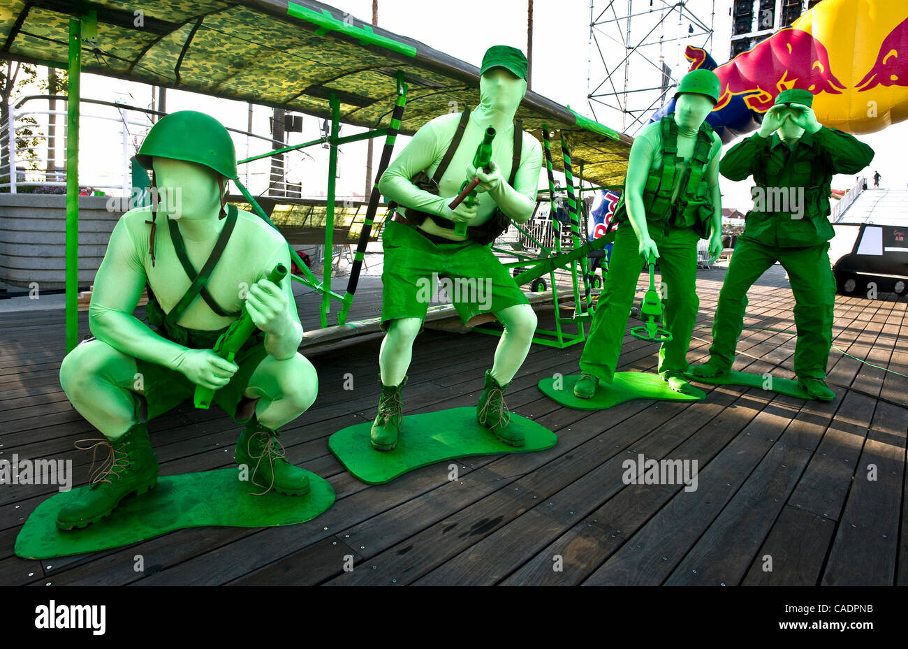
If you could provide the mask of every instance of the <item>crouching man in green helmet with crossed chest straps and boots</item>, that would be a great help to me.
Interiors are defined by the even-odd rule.
[[[235,458],[253,485],[262,493],[309,491],[306,472],[287,462],[278,438],[311,406],[318,378],[297,352],[302,327],[290,281],[267,279],[279,263],[290,268],[286,242],[226,204],[227,181],[238,177],[230,133],[209,115],[172,113],[155,123],[136,159],[153,171],[153,188],[175,201],[155,197],[117,222],[94,280],[95,338],[60,368],[66,396],[104,435],[76,447],[107,451],[88,491],[58,513],[63,530],[97,522],[124,497],[156,486],[148,421],[192,398],[196,386],[217,390],[214,402],[248,422]],[[156,330],[133,315],[146,287]],[[230,362],[211,349],[243,308],[258,330]]]

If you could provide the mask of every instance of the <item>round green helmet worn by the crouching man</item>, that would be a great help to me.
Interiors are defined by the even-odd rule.
[[[197,162],[236,180],[236,149],[223,124],[211,115],[179,111],[164,115],[145,136],[135,159],[152,169],[152,157]]]

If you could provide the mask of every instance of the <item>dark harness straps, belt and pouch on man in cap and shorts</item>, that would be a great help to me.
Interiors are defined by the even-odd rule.
[[[454,133],[454,138],[451,140],[451,143],[448,146],[448,151],[445,152],[444,157],[439,162],[438,168],[435,170],[435,173],[432,174],[432,177],[429,178],[429,174],[425,170],[417,172],[410,182],[419,187],[423,192],[429,192],[436,196],[439,195],[439,182],[441,182],[441,176],[448,170],[448,165],[451,162],[451,159],[454,157],[454,153],[457,152],[457,148],[460,144],[460,141],[463,139],[463,132],[467,128],[467,123],[469,122],[469,108],[465,108],[463,113],[460,114],[460,122],[458,123],[457,131]],[[511,171],[510,176],[508,177],[508,184],[513,187],[514,179],[517,176],[517,170],[520,166],[520,154],[523,148],[523,122],[516,120],[514,123],[514,150],[511,156]],[[388,209],[395,210],[399,207],[404,207],[397,202],[390,201],[388,202]],[[400,210],[398,210],[400,211]],[[439,216],[438,214],[433,214],[429,211],[419,211],[414,210],[410,207],[404,207],[403,216],[407,221],[410,222],[410,225],[419,228],[422,225],[423,221],[427,218],[431,219],[439,228],[444,228],[445,230],[454,230],[454,221]],[[500,208],[496,207],[495,211],[492,212],[491,218],[489,221],[486,221],[482,225],[470,226],[467,228],[467,236],[470,240],[476,241],[477,243],[487,246],[492,241],[498,239],[498,236],[502,232],[508,230],[510,225],[510,219],[505,215]]]

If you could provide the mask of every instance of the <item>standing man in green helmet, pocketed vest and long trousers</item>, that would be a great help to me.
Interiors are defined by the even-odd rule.
[[[580,357],[583,377],[574,387],[579,398],[592,398],[599,380],[612,382],[640,268],[650,257],[659,261],[665,327],[672,333],[659,349],[658,371],[672,389],[693,392],[683,373],[699,305],[696,244],[709,238],[714,258],[722,250],[722,143],[704,121],[718,100],[718,77],[708,70],[690,72],[675,96],[675,112],[647,125],[631,147],[606,282]]]

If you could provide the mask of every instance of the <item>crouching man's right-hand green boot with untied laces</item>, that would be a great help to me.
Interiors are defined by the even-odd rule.
[[[280,429],[266,428],[253,416],[236,440],[236,463],[246,465],[250,482],[264,489],[253,496],[267,494],[272,487],[275,491],[290,496],[309,493],[309,476],[306,471],[287,461],[278,440],[280,437]]]

